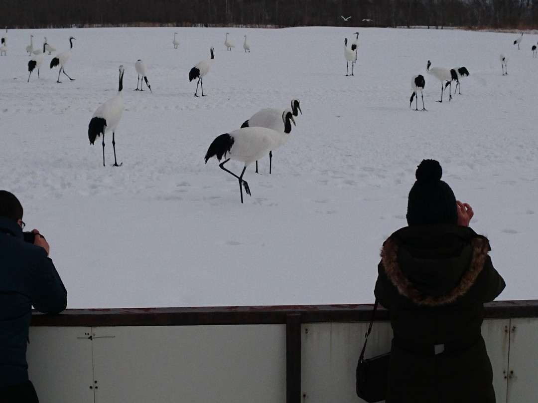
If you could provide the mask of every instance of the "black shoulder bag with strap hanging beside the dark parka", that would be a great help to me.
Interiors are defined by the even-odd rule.
[[[366,350],[366,342],[372,331],[372,324],[377,309],[376,303],[373,305],[372,320],[366,332],[363,349],[360,352],[359,362],[357,363],[357,396],[368,403],[375,403],[385,400],[387,394],[387,379],[388,379],[388,362],[391,353],[381,354],[380,356],[365,359],[364,350]]]

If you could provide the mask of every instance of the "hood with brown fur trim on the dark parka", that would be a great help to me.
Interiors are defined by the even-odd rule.
[[[469,291],[490,249],[487,238],[468,227],[409,226],[384,242],[381,262],[400,295],[417,305],[437,306]]]

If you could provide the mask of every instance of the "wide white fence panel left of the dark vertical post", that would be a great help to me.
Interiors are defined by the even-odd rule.
[[[284,325],[93,331],[96,403],[286,401]]]

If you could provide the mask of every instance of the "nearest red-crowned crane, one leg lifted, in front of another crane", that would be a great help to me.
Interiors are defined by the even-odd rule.
[[[282,114],[282,120],[286,119],[290,119],[295,123],[292,111],[289,109]],[[264,157],[272,149],[278,148],[287,140],[287,137],[289,137],[288,133],[266,127],[243,127],[217,136],[209,146],[204,159],[207,164],[211,157],[216,157],[218,161],[226,158],[218,166],[239,180],[241,203],[243,203],[243,187],[246,194],[251,194],[249,184],[243,179],[246,167]],[[241,175],[237,176],[232,171],[224,168],[224,164],[230,159],[235,159],[245,164]]]

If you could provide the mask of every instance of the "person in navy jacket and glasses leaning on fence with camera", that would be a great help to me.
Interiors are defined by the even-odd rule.
[[[32,305],[44,314],[67,306],[48,242],[24,226],[20,201],[0,190],[0,403],[39,402],[26,362]]]

